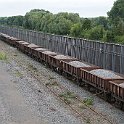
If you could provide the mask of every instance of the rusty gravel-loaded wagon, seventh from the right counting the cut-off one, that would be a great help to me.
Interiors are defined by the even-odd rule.
[[[27,53],[28,55],[33,57],[33,55],[34,55],[33,53],[34,53],[36,48],[41,48],[41,47],[31,43],[31,44],[25,46],[24,51],[25,51],[25,53]]]

